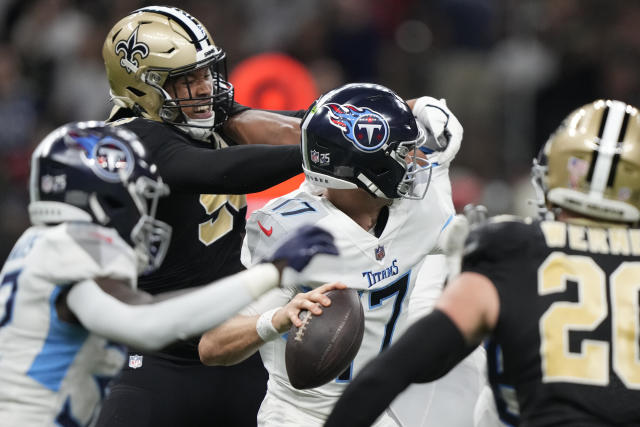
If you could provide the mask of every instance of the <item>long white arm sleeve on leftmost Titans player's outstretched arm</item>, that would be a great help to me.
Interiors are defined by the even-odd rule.
[[[141,350],[157,350],[219,325],[278,281],[276,267],[265,263],[174,298],[129,305],[85,280],[73,286],[67,305],[94,333]]]

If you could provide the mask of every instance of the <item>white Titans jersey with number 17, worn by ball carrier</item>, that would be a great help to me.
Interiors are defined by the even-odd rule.
[[[405,327],[408,297],[419,267],[454,214],[447,172],[445,168],[434,170],[423,200],[395,200],[380,237],[362,229],[326,198],[302,190],[274,199],[251,215],[242,251],[245,265],[269,257],[296,228],[315,224],[333,234],[340,256],[314,260],[305,276],[324,283],[340,281],[357,289],[365,313],[364,338],[354,361],[342,375],[321,387],[296,390],[289,384],[285,339],[263,345],[260,355],[269,371],[268,396],[286,401],[322,423],[351,378]],[[274,291],[245,313],[285,305],[289,297],[286,292]]]

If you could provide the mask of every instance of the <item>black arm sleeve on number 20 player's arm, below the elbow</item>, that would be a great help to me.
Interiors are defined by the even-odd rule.
[[[474,348],[447,315],[434,310],[360,371],[325,427],[371,425],[409,384],[440,378]]]

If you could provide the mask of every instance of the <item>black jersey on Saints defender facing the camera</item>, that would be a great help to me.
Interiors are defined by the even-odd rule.
[[[299,146],[242,145],[216,149],[174,126],[144,118],[112,122],[136,133],[149,151],[170,195],[156,217],[172,227],[167,255],[141,276],[149,293],[208,284],[244,269],[246,193],[265,190],[302,172]],[[220,301],[224,304],[224,301]],[[212,308],[213,309],[213,308]],[[177,357],[197,359],[197,343],[174,346]]]

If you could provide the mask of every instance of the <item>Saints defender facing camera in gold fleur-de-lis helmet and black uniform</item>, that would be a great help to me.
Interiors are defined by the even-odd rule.
[[[299,119],[234,103],[225,53],[177,8],[145,7],[123,18],[103,58],[115,104],[110,122],[139,136],[171,188],[157,211],[173,228],[169,250],[140,288],[155,294],[242,270],[245,193],[301,172]],[[266,390],[257,355],[235,367],[205,367],[194,340],[158,353],[130,349],[130,357],[98,425],[255,425]]]

